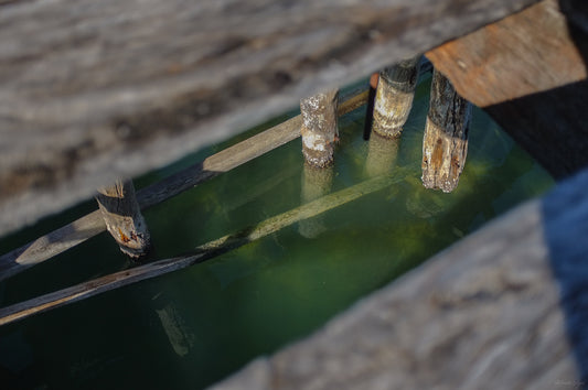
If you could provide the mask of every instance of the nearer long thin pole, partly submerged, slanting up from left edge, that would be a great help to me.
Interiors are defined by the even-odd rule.
[[[366,194],[383,189],[394,183],[399,183],[405,180],[406,172],[406,170],[396,170],[393,175],[374,177],[349,188],[323,196],[289,212],[266,219],[256,226],[202,245],[196,248],[194,254],[154,261],[149,264],[94,279],[72,288],[0,308],[0,325],[23,319],[33,314],[42,313],[113,289],[156,278],[212,259],[220,253],[260,239],[300,220],[316,217],[330,209],[355,201]]]

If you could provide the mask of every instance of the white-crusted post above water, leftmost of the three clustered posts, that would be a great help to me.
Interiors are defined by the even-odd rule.
[[[308,164],[325,167],[333,163],[339,90],[319,93],[300,100],[302,153]]]

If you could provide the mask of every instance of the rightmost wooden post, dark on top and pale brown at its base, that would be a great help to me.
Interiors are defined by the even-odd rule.
[[[423,140],[423,184],[453,191],[466,164],[472,106],[451,83],[434,69],[429,113]]]

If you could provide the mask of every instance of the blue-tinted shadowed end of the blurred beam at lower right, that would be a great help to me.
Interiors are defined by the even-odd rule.
[[[588,170],[542,201],[545,241],[560,288],[566,331],[581,388],[588,388]]]

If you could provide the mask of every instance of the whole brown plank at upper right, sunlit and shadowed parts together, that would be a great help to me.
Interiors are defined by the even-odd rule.
[[[588,165],[585,4],[544,0],[426,53],[556,178]]]

